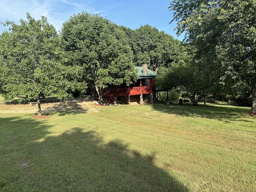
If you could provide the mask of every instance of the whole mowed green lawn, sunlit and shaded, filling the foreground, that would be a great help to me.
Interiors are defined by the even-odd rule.
[[[256,191],[250,108],[92,108],[0,112],[0,191]]]

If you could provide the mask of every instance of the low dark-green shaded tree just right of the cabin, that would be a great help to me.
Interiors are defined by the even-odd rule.
[[[210,80],[211,78],[205,77],[192,61],[188,61],[179,62],[167,69],[162,68],[156,78],[156,86],[158,90],[175,89],[196,103],[209,95],[216,86]]]

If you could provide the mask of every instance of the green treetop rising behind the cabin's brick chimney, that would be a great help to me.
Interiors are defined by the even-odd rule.
[[[140,26],[134,31],[123,29],[130,37],[137,66],[146,63],[154,72],[158,72],[161,67],[167,68],[182,59],[181,42],[164,31],[150,25]]]

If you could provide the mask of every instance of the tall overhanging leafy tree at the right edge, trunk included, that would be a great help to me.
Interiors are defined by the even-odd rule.
[[[247,84],[256,113],[256,0],[173,0],[177,33],[200,69],[223,84]]]

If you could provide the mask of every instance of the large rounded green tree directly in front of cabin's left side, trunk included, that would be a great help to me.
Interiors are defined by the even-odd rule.
[[[61,36],[70,62],[84,68],[100,103],[109,84],[130,85],[137,78],[128,37],[108,19],[82,12],[64,22]]]

